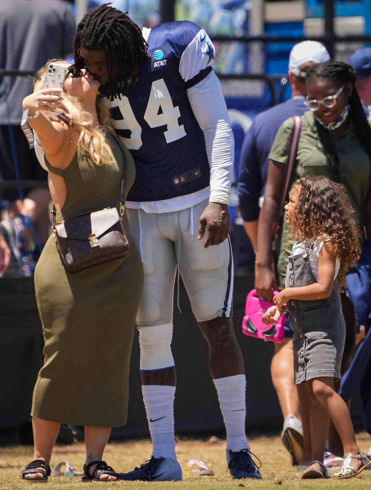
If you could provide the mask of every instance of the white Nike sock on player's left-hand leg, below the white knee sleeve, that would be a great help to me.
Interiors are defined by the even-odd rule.
[[[142,385],[142,393],[152,438],[152,456],[176,461],[175,386]]]

